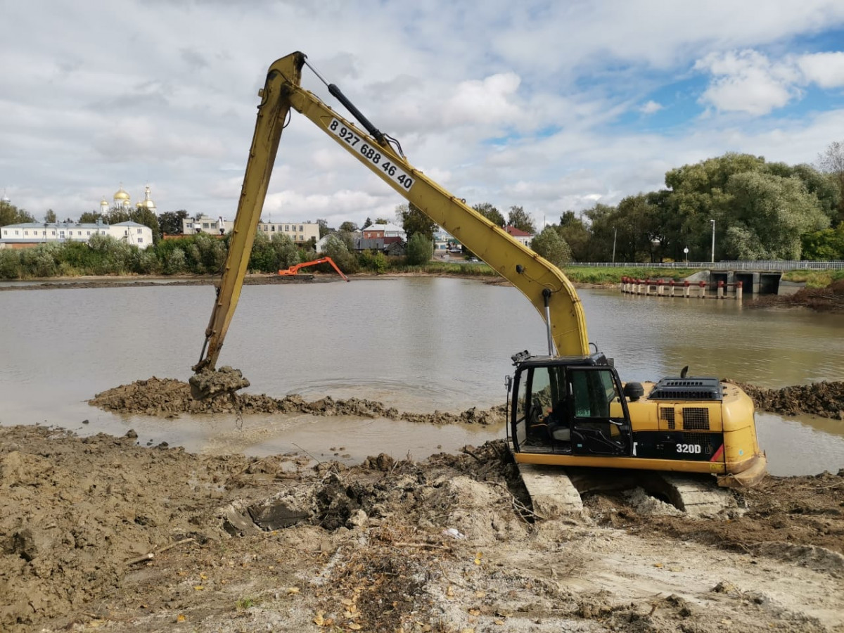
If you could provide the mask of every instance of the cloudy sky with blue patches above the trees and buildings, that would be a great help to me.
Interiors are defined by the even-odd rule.
[[[257,90],[293,51],[442,187],[538,226],[726,152],[794,165],[844,141],[841,0],[0,0],[0,20],[0,192],[35,219],[121,186],[234,219]],[[403,202],[293,113],[262,219]]]

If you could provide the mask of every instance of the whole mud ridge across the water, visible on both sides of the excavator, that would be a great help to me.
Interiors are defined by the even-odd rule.
[[[223,368],[221,368],[223,369]],[[765,389],[736,382],[763,411],[782,415],[813,414],[844,419],[844,382],[816,382],[812,385]],[[175,417],[178,414],[311,414],[358,415],[370,418],[404,419],[426,424],[496,425],[506,421],[506,407],[469,408],[459,414],[435,411],[416,414],[386,407],[365,398],[335,400],[331,397],[307,402],[299,395],[270,398],[267,395],[231,393],[218,398],[196,400],[187,382],[152,377],[98,393],[89,404],[117,413],[136,413]]]

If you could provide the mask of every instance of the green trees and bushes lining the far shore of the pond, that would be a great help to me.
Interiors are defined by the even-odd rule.
[[[617,205],[595,204],[579,213],[566,210],[533,238],[533,250],[557,265],[571,262],[663,262],[716,260],[844,259],[844,143],[830,143],[816,166],[766,162],[762,156],[728,153],[683,165],[665,174],[665,188],[637,193]],[[536,234],[530,214],[511,206],[507,217],[492,203],[473,209],[498,226]],[[413,204],[398,205],[397,224],[408,238],[403,264],[433,255],[434,224]],[[159,215],[148,208],[111,209],[105,216],[83,214],[79,222],[107,224],[132,220],[149,226],[154,246],[146,251],[106,236],[88,244],[57,242],[21,251],[0,250],[0,278],[55,274],[217,273],[225,259],[224,240],[197,234],[179,241],[187,211]],[[46,221],[56,221],[50,209]],[[73,222],[72,219],[65,220]],[[0,226],[35,222],[13,204],[0,204]],[[362,228],[386,223],[367,218]],[[345,272],[383,272],[396,260],[380,252],[356,252],[358,226],[345,221],[335,230],[318,219],[320,236],[331,235],[325,254]],[[714,237],[714,252],[712,243]],[[113,241],[113,243],[112,243]],[[257,231],[250,269],[271,273],[316,257],[314,245],[296,246],[285,235]]]

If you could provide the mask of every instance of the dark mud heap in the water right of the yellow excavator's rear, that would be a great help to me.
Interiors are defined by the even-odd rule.
[[[782,389],[754,387],[736,382],[753,399],[756,408],[782,415],[813,414],[844,419],[844,382],[815,382]]]

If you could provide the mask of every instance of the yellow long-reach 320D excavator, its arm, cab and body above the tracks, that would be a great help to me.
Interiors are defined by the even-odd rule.
[[[544,319],[548,354],[515,354],[514,374],[506,378],[507,436],[517,463],[710,473],[723,486],[752,485],[764,477],[766,457],[747,394],[717,378],[686,376],[685,370],[656,383],[623,383],[613,360],[589,343],[581,300],[560,269],[416,170],[398,141],[381,133],[336,85],[327,84],[329,93],[363,130],[303,89],[306,64],[311,68],[301,52],[282,57],[258,93],[229,252],[192,382],[216,366],[293,109],[495,268]]]

